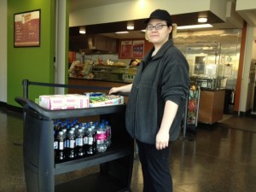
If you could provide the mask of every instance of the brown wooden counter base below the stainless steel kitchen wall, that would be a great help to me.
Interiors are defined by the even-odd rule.
[[[201,90],[198,121],[213,124],[223,117],[225,90]]]

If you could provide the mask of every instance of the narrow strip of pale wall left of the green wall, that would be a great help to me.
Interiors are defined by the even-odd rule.
[[[0,102],[7,102],[7,0],[0,0]]]

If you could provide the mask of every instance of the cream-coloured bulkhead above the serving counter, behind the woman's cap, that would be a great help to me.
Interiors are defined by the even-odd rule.
[[[184,6],[183,6],[184,5]],[[69,26],[83,26],[121,20],[148,18],[154,9],[166,9],[171,15],[212,10],[225,20],[226,1],[223,0],[144,0],[114,3],[81,9],[69,15]]]

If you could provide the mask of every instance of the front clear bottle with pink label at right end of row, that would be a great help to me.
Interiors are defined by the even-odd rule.
[[[107,150],[107,130],[103,124],[96,129],[96,150],[99,153]]]

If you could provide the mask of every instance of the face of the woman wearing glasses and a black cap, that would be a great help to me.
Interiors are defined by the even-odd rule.
[[[148,41],[157,46],[161,46],[162,44],[165,44],[166,41],[169,39],[169,34],[172,32],[172,26],[167,26],[165,20],[158,20],[158,19],[149,20],[148,26],[147,26]],[[152,30],[150,30],[150,26],[151,28],[152,26],[154,26]],[[157,27],[161,27],[161,28],[156,29]]]

